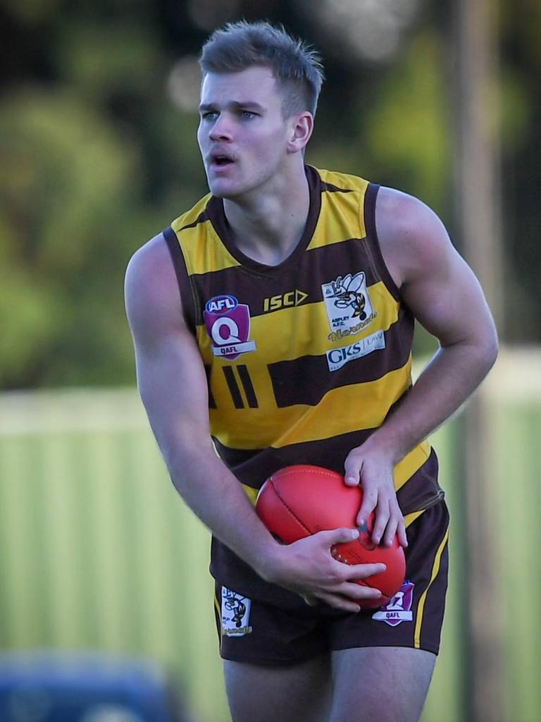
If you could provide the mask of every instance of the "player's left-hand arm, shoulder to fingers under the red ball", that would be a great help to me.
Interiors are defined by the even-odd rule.
[[[377,596],[348,581],[374,573],[374,565],[347,567],[330,554],[332,544],[352,538],[351,530],[320,532],[283,547],[216,456],[206,374],[182,318],[175,271],[161,235],[139,249],[128,265],[126,310],[139,393],[152,430],[175,488],[201,521],[263,578],[292,591],[350,611],[358,606],[344,594]]]

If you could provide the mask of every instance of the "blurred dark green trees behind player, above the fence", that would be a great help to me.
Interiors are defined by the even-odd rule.
[[[284,22],[322,51],[327,82],[309,162],[418,195],[453,230],[449,4],[378,7],[1,1],[4,388],[133,383],[124,269],[146,238],[206,192],[195,143],[195,56],[227,20]],[[505,292],[517,319],[511,338],[539,340],[541,287],[528,271],[541,255],[541,12],[535,0],[502,9],[504,218],[517,269]]]

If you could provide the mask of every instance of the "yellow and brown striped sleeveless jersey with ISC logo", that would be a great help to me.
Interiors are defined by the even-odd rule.
[[[235,247],[215,196],[164,231],[207,372],[216,451],[252,502],[283,466],[343,474],[349,451],[411,386],[414,321],[379,248],[379,187],[310,166],[306,173],[307,224],[278,266]],[[397,464],[395,488],[407,521],[441,499],[428,442]],[[240,593],[268,596],[270,586],[216,539],[211,572]]]

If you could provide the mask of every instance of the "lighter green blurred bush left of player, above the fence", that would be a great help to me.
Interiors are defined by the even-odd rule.
[[[123,214],[141,187],[137,144],[75,93],[38,87],[4,98],[0,139],[1,381],[81,383],[89,346],[105,352],[100,378],[90,371],[105,381],[107,342],[126,326]]]

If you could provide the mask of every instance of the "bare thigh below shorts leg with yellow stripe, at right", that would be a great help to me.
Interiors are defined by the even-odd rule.
[[[405,647],[333,652],[329,722],[417,722],[435,662],[431,652]]]

